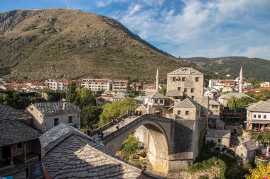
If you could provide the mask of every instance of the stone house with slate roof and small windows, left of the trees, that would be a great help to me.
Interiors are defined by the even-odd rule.
[[[69,102],[32,103],[26,111],[33,115],[33,126],[45,132],[60,123],[80,129],[81,110]]]

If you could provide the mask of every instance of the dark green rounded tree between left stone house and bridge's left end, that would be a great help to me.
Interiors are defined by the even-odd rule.
[[[89,126],[94,129],[94,125],[99,122],[99,115],[102,108],[95,105],[87,105],[82,110],[82,127]]]

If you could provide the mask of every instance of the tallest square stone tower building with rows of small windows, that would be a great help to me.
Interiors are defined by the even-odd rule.
[[[167,91],[183,91],[184,97],[200,100],[203,96],[204,76],[190,67],[176,69],[167,74]]]

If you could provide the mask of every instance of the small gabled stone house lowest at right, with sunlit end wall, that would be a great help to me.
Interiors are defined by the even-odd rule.
[[[256,142],[252,139],[237,146],[235,154],[247,161],[252,161],[257,154],[258,148]]]

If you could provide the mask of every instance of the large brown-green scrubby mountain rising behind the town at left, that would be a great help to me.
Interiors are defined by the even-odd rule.
[[[172,57],[105,16],[72,9],[0,13],[0,76],[82,76],[153,81],[190,63]],[[203,70],[201,70],[203,71]]]

